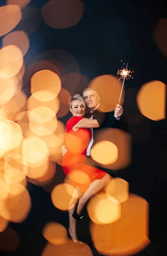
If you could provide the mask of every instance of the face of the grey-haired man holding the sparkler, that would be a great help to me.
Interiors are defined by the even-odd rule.
[[[99,95],[94,90],[87,90],[83,93],[86,105],[93,111],[99,105]]]

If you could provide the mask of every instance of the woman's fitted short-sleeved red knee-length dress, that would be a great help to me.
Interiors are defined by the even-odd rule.
[[[88,128],[73,130],[77,122],[83,118],[82,116],[73,116],[66,123],[65,148],[67,148],[67,153],[63,157],[62,167],[66,175],[73,171],[82,171],[92,182],[105,177],[106,172],[86,164],[86,150],[91,140],[91,130]]]

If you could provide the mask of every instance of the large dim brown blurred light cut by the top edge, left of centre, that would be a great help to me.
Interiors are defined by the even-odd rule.
[[[42,7],[43,20],[54,29],[76,25],[83,12],[84,3],[81,0],[50,0]]]

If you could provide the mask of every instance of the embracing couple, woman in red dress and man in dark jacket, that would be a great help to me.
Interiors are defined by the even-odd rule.
[[[100,169],[97,169],[86,164],[86,156],[90,156],[91,147],[93,145],[93,137],[95,136],[97,128],[114,127],[115,122],[120,119],[123,113],[123,108],[120,105],[110,113],[102,113],[98,111],[99,95],[92,88],[86,88],[83,91],[83,98],[79,94],[70,97],[68,105],[72,113],[71,119],[66,123],[65,145],[62,146],[62,167],[66,175],[70,172],[79,170],[84,172],[91,180],[91,184],[86,192],[79,198],[78,203],[75,205],[74,201],[79,192],[79,186],[75,185],[75,192],[70,200],[69,212],[69,233],[73,241],[78,242],[76,236],[76,220],[79,221],[83,218],[81,211],[86,202],[110,181],[110,175]],[[90,109],[88,116],[85,115],[85,105]],[[83,117],[84,116],[84,117]],[[87,118],[88,117],[88,118]],[[116,121],[117,120],[117,121]],[[75,154],[71,153],[67,145],[68,134],[82,140],[84,147],[82,152]],[[84,134],[84,135],[83,135]]]

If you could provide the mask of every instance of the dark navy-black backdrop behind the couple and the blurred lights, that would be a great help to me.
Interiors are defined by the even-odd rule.
[[[41,9],[46,2],[31,0],[29,5]],[[167,58],[156,46],[153,36],[159,19],[167,17],[167,3],[162,0],[83,2],[85,12],[75,26],[52,29],[42,20],[40,28],[29,36],[30,47],[24,58],[25,67],[47,49],[63,49],[76,58],[80,73],[91,81],[96,76],[116,75],[121,67],[120,60],[129,62],[134,75],[125,85],[125,119],[120,122],[119,128],[126,129],[132,135],[132,163],[125,170],[117,172],[117,176],[127,180],[131,193],[142,196],[150,204],[151,244],[141,255],[167,255],[167,122],[166,119],[155,122],[146,117],[139,123],[127,122],[142,116],[137,108],[136,94],[144,83],[159,80],[167,84]],[[0,1],[1,6],[5,4],[6,1]],[[81,93],[83,89],[78,88],[76,92]],[[28,94],[28,83],[23,85],[23,90]],[[65,123],[68,118],[69,114],[61,121]],[[56,183],[62,183],[64,177],[61,166],[57,165]],[[40,255],[46,243],[40,233],[43,226],[49,221],[56,221],[68,228],[68,214],[56,209],[50,193],[42,188],[28,183],[28,191],[32,200],[31,212],[23,223],[11,223],[10,227],[21,237],[18,253]],[[83,231],[83,227],[80,229]],[[87,229],[85,241],[89,239]],[[37,239],[36,249],[34,239]]]

